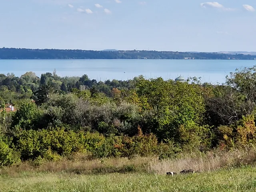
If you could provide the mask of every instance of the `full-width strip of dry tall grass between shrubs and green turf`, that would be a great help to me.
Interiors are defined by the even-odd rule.
[[[253,164],[256,161],[256,150],[235,150],[232,152],[208,152],[195,157],[184,157],[175,160],[158,160],[157,157],[134,159],[112,158],[103,160],[88,160],[86,156],[78,154],[72,160],[62,159],[58,162],[44,162],[35,166],[31,162],[23,162],[20,166],[8,167],[0,170],[0,174],[15,175],[23,171],[31,172],[68,172],[74,174],[108,174],[146,172],[166,174],[166,172],[180,172],[184,169],[209,172],[220,168],[238,167]]]

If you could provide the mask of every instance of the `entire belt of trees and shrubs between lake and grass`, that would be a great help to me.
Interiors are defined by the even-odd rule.
[[[255,85],[256,66],[230,73],[222,85],[0,74],[0,166],[74,153],[170,158],[184,150],[250,148]]]

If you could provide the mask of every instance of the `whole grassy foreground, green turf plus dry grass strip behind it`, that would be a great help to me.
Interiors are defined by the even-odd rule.
[[[0,192],[254,192],[254,150],[208,153],[173,160],[88,160],[78,154],[59,162],[23,162],[0,170]],[[192,168],[200,173],[166,176]]]

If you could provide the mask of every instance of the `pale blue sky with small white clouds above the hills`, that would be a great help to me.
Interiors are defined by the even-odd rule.
[[[256,51],[255,0],[0,2],[0,47]]]

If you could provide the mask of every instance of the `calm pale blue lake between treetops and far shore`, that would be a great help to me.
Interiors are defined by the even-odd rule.
[[[28,71],[38,76],[53,72],[59,76],[82,76],[90,79],[128,80],[143,75],[146,78],[175,79],[182,75],[201,77],[203,82],[224,82],[236,68],[251,67],[256,60],[0,60],[0,73],[20,76]]]

